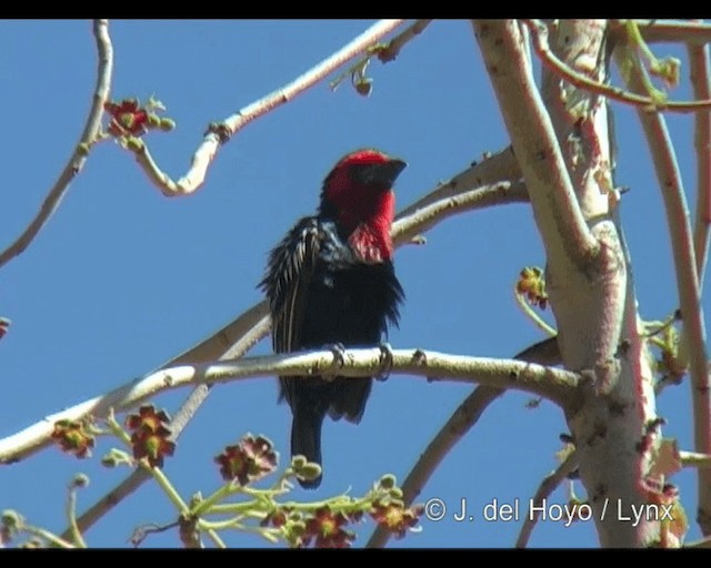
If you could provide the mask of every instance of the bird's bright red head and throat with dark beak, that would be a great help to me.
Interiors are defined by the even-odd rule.
[[[357,150],[343,156],[323,181],[321,213],[333,215],[351,247],[365,262],[392,256],[392,185],[405,165],[377,150]]]

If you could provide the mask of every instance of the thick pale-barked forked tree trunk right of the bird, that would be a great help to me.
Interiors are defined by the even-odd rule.
[[[561,20],[551,49],[578,73],[603,82],[604,31],[604,20]],[[539,91],[515,21],[477,21],[474,32],[545,247],[563,365],[591,377],[564,410],[600,544],[650,545],[659,524],[623,521],[619,514],[645,503],[641,488],[659,429],[642,450],[654,393],[618,220],[608,106],[549,71]]]

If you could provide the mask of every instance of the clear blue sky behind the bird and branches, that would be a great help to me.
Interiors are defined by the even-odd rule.
[[[147,141],[160,165],[178,178],[209,122],[220,120],[291,81],[372,21],[117,20],[113,98],[154,94],[178,128]],[[670,45],[661,54],[684,53]],[[0,22],[0,108],[3,183],[0,247],[26,226],[78,141],[94,84],[96,49],[89,21]],[[184,199],[163,197],[111,142],[92,152],[59,211],[32,246],[0,271],[0,315],[10,333],[0,342],[0,437],[47,414],[110,390],[202,341],[261,300],[256,285],[267,252],[292,223],[316,210],[323,176],[344,153],[380,148],[409,162],[397,185],[399,209],[464,170],[485,151],[508,144],[489,79],[467,21],[435,21],[397,61],[374,61],[370,98],[348,83],[327,83],[249,124],[222,149],[204,186]],[[689,97],[687,85],[672,93]],[[677,291],[661,195],[634,111],[613,106],[618,132],[622,220],[634,262],[643,317],[677,307]],[[692,116],[669,116],[690,206],[695,166]],[[425,246],[405,246],[395,268],[407,294],[394,347],[510,357],[542,338],[517,307],[512,287],[525,265],[544,264],[527,205],[461,215],[438,225]],[[704,302],[704,307],[708,302]],[[550,314],[548,314],[550,316]],[[262,342],[253,354],[270,353]],[[324,479],[314,499],[367,490],[384,473],[403,480],[424,446],[471,390],[393,376],[375,385],[357,427],[327,422]],[[188,390],[157,404],[173,413]],[[421,500],[462,498],[479,513],[494,498],[527,501],[555,467],[559,434],[568,432],[550,403],[527,409],[530,397],[508,393],[451,452]],[[691,447],[689,386],[658,400],[665,435]],[[286,458],[290,414],[277,405],[273,378],[218,386],[179,440],[166,474],[186,498],[220,484],[212,457],[247,432],[270,437]],[[91,485],[80,510],[127,473],[106,470],[100,456],[83,462],[49,448],[0,469],[0,509],[14,508],[49,529],[66,526],[64,487],[84,471]],[[690,518],[695,476],[675,479]],[[582,487],[577,487],[584,495]],[[567,486],[552,500],[568,500]],[[86,535],[91,546],[129,546],[132,529],[169,523],[172,506],[144,485]],[[518,521],[422,521],[400,547],[510,547]],[[358,529],[362,546],[373,525]],[[692,524],[690,538],[698,537]],[[226,535],[231,546],[271,546],[253,535]],[[597,546],[591,523],[540,523],[533,547]],[[168,531],[144,544],[180,546]]]

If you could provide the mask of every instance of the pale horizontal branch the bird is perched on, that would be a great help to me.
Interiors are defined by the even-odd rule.
[[[395,349],[392,355],[393,375],[407,374],[432,382],[480,383],[498,388],[514,388],[544,396],[557,404],[568,403],[579,384],[575,373],[518,361],[467,357],[422,349]],[[379,348],[349,349],[341,366],[333,352],[320,351],[161,369],[0,439],[0,464],[14,463],[47,445],[57,420],[76,420],[87,415],[104,418],[110,409],[122,412],[158,393],[184,386],[248,377],[308,376],[336,372],[344,377],[373,376],[382,371],[381,358]]]

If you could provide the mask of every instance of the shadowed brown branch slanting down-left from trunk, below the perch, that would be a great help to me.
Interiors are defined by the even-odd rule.
[[[544,339],[531,347],[528,347],[515,355],[514,359],[549,366],[558,365],[561,362],[560,349],[558,348],[558,343],[554,337]],[[432,474],[444,460],[451,449],[479,422],[479,418],[489,405],[503,393],[504,390],[501,388],[478,386],[457,407],[450,418],[428,444],[427,448],[402,484],[402,498],[405,506],[409,507],[412,505],[414,499],[420,496],[422,488],[430,480]],[[391,535],[392,532],[385,530],[379,525],[368,540],[365,547],[382,548],[385,546]]]

